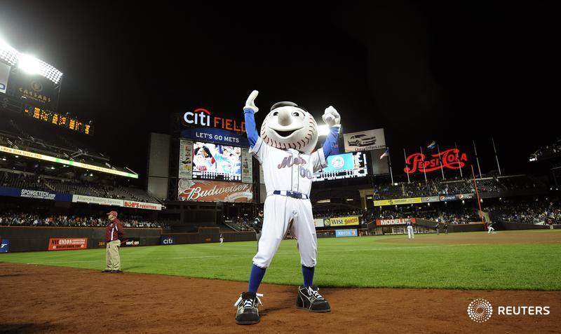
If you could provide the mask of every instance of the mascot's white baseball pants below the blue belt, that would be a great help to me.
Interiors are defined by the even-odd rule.
[[[269,195],[264,204],[263,230],[253,264],[266,268],[271,264],[280,241],[288,228],[297,239],[302,265],[316,266],[318,239],[313,225],[310,200],[300,200],[283,195]]]

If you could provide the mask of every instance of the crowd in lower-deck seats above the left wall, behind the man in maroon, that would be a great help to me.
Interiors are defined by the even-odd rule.
[[[126,228],[167,228],[165,223],[151,221],[142,216],[119,216]],[[20,211],[6,211],[0,214],[2,226],[50,226],[96,228],[107,225],[107,217],[74,216],[62,214],[29,214]]]

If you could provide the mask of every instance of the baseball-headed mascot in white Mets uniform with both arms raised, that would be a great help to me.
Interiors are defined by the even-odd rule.
[[[341,118],[332,106],[325,109],[323,121],[330,126],[330,133],[323,148],[313,151],[318,142],[316,120],[295,103],[278,102],[263,121],[259,136],[254,116],[259,110],[255,106],[257,94],[259,92],[254,90],[248,97],[243,113],[250,153],[263,166],[267,197],[248,291],[242,293],[235,304],[238,308],[236,323],[243,325],[259,322],[259,297],[262,295],[257,293],[257,288],[289,228],[297,239],[304,276],[304,285],[298,287],[296,306],[310,312],[331,310],[329,302],[313,285],[318,242],[309,196],[313,172],[327,166],[325,159],[337,141]]]

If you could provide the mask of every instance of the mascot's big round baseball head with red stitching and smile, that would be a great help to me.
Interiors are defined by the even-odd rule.
[[[269,146],[294,148],[309,154],[318,142],[318,125],[313,116],[292,102],[273,104],[261,125],[261,138]]]

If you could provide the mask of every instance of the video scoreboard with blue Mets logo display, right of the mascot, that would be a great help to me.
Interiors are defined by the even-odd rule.
[[[344,153],[327,157],[327,167],[313,174],[312,181],[350,179],[368,173],[366,153]]]

